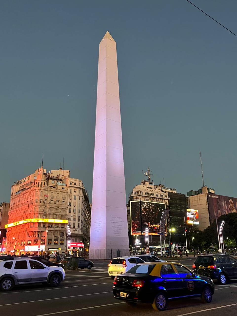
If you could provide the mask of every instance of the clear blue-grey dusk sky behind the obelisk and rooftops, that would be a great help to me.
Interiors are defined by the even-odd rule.
[[[193,3],[237,33],[235,0]],[[92,197],[99,43],[117,43],[127,195],[149,166],[237,197],[237,37],[185,0],[2,1],[0,202],[60,162]]]

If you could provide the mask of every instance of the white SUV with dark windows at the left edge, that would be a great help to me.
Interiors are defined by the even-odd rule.
[[[65,279],[61,267],[46,266],[30,258],[11,258],[0,261],[0,290],[10,291],[15,285],[49,283],[60,285]]]

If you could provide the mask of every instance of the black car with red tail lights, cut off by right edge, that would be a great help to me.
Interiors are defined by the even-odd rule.
[[[193,272],[209,276],[225,284],[237,277],[237,260],[226,254],[198,256],[192,265]]]

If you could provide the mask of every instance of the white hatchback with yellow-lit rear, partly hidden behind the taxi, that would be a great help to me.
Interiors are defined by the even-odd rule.
[[[112,261],[109,264],[109,269],[108,273],[111,278],[114,278],[115,276],[119,274],[123,274],[130,270],[134,265],[138,263],[145,262],[144,260],[136,257],[136,256],[131,256],[131,257],[118,257],[118,258],[113,258]]]

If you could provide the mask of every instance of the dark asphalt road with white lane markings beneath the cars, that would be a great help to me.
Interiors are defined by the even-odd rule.
[[[193,259],[180,262],[191,267]],[[216,284],[210,304],[203,304],[199,298],[182,299],[170,301],[165,312],[155,312],[151,305],[138,304],[137,307],[130,307],[114,299],[112,280],[107,274],[107,262],[94,261],[94,264],[92,270],[68,271],[65,281],[57,288],[36,284],[21,286],[10,292],[0,292],[0,315],[237,315],[237,279],[227,285]]]

